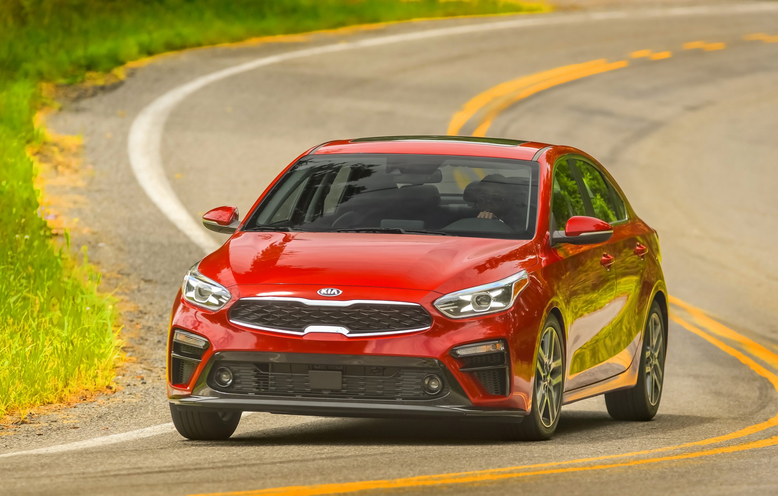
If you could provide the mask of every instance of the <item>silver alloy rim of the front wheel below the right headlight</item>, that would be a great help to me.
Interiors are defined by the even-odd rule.
[[[552,326],[543,330],[538,365],[535,366],[535,391],[537,392],[538,417],[550,428],[562,407],[562,346],[559,334]]]

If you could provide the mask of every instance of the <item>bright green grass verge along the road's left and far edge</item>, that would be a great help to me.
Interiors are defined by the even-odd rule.
[[[152,54],[420,17],[539,12],[510,0],[4,0],[0,3],[0,417],[102,389],[114,309],[40,215],[27,147],[40,83],[74,83]],[[86,256],[85,256],[86,259]]]

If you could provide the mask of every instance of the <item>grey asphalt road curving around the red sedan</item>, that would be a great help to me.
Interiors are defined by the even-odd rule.
[[[187,51],[67,105],[50,124],[84,136],[94,171],[79,191],[86,203],[72,210],[89,230],[75,229],[75,237],[130,302],[125,336],[138,361],[118,379],[119,393],[0,437],[0,494],[199,494],[311,484],[346,485],[268,494],[775,494],[778,4],[759,12],[741,5],[753,4],[598,17],[564,12],[438,37],[413,33],[513,18],[405,23]],[[754,33],[766,36],[746,36]],[[684,48],[695,41],[704,43]],[[138,185],[128,158],[131,125],[159,96],[203,75],[331,44],[349,47],[218,79],[171,107],[160,158],[184,210],[197,218],[237,204],[246,212],[283,166],[322,141],[445,134],[464,103],[501,82],[595,59],[627,61],[516,101],[488,134],[590,152],[659,230],[682,323],[671,324],[654,421],[612,421],[594,398],[564,407],[555,438],[536,443],[503,442],[489,425],[458,422],[251,414],[228,442],[187,441],[166,425],[167,314],[181,275],[203,248]],[[650,54],[634,54],[645,50]],[[478,118],[461,133],[474,132]],[[505,467],[513,468],[494,470]],[[404,479],[417,476],[432,477]],[[348,485],[394,479],[402,480]]]

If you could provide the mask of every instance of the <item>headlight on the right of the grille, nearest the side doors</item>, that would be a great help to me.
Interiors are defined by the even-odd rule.
[[[501,312],[513,306],[516,297],[528,284],[527,271],[521,271],[510,278],[441,296],[435,300],[434,305],[443,315],[452,319]]]

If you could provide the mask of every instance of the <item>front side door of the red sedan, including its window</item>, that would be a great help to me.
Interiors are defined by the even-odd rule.
[[[552,230],[564,230],[567,219],[573,215],[591,215],[591,205],[582,194],[584,188],[567,157],[555,163],[552,187]],[[580,350],[611,332],[616,274],[601,263],[603,256],[608,255],[605,243],[559,243],[552,248],[563,267],[559,296],[565,304],[567,327],[565,389],[577,389],[605,379],[598,370],[605,358]]]

